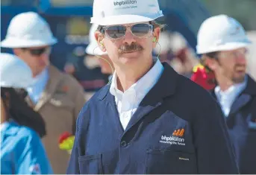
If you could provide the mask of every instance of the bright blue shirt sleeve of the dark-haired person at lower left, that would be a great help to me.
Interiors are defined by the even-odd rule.
[[[53,174],[46,150],[37,133],[32,132],[27,137],[25,148],[19,157],[17,174]]]

